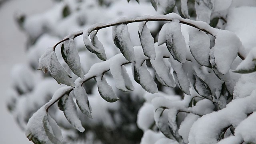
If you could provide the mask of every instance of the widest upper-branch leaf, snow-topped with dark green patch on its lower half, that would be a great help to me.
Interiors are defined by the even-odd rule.
[[[180,63],[186,62],[187,45],[181,33],[179,22],[168,22],[164,24],[159,33],[158,44],[166,43],[169,52],[175,60]]]

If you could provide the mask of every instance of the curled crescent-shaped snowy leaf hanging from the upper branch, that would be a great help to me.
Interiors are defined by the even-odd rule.
[[[103,49],[96,48],[92,44],[92,42],[89,40],[88,36],[89,36],[88,30],[84,30],[83,31],[83,40],[84,40],[84,44],[85,44],[85,47],[87,48],[87,50],[89,50],[90,52],[92,52],[94,54],[103,54],[104,53]]]

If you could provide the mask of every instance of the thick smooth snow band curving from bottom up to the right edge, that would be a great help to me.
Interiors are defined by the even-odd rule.
[[[212,112],[199,118],[190,130],[188,141],[190,144],[216,144],[218,134],[230,124],[235,128],[244,120],[248,113],[256,110],[254,101],[256,91],[245,98],[232,100],[226,108]]]

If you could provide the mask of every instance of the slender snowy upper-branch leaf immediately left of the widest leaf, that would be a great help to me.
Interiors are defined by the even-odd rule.
[[[156,58],[154,38],[144,22],[139,24],[139,37],[144,55],[154,60]]]

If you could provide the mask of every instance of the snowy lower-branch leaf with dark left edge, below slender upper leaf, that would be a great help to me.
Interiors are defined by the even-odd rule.
[[[156,82],[154,82],[152,76],[150,75],[146,63],[144,63],[142,66],[138,66],[136,70],[138,70],[140,85],[142,88],[152,94],[157,93],[158,88]]]

